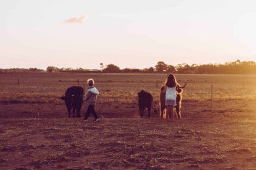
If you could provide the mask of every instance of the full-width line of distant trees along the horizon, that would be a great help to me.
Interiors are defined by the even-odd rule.
[[[28,73],[28,72],[48,72],[48,73],[178,73],[178,74],[256,74],[255,61],[240,61],[226,62],[224,64],[204,64],[188,65],[186,63],[178,64],[176,66],[168,65],[163,61],[158,61],[154,67],[145,69],[120,69],[117,65],[112,63],[104,67],[100,63],[100,69],[72,69],[72,68],[58,68],[49,66],[46,71],[42,69],[0,69],[0,73]]]

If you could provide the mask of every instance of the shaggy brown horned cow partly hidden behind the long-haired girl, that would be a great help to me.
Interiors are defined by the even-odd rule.
[[[182,87],[178,85],[176,88],[177,97],[176,97],[175,110],[177,112],[178,118],[181,118],[182,91],[183,91],[183,88],[185,87],[186,87],[186,84]],[[164,111],[165,111],[165,86],[162,86],[160,90],[160,118],[164,118]]]

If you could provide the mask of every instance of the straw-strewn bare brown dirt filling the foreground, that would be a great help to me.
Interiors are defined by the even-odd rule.
[[[1,115],[0,169],[256,167],[255,112],[186,113],[174,122],[101,113],[106,118],[96,123],[47,112],[19,115]]]

